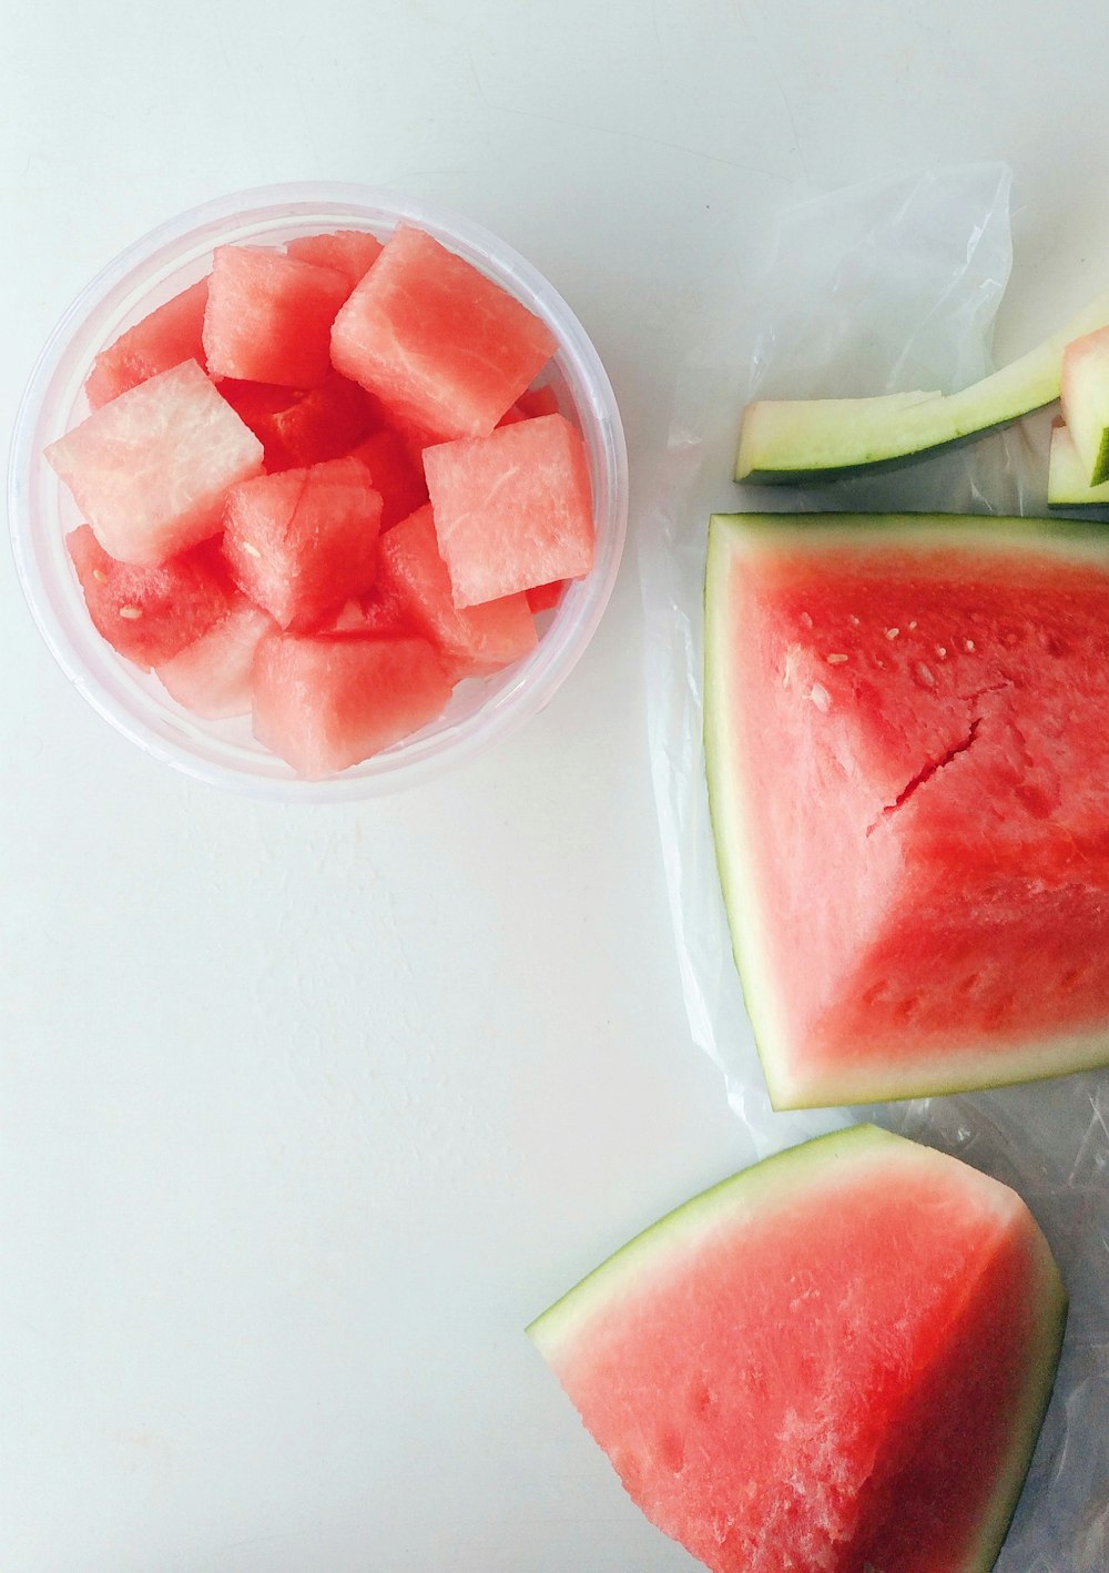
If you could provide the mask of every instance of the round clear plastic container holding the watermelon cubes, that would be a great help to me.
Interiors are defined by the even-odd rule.
[[[42,450],[88,412],[82,384],[93,357],[123,329],[201,278],[216,245],[280,245],[322,230],[385,238],[407,220],[497,280],[543,318],[558,351],[541,381],[585,439],[593,483],[596,565],[549,613],[536,648],[491,678],[469,680],[433,727],[322,782],[299,780],[258,744],[250,717],[203,722],[154,676],[123,661],[93,628],[64,536],[82,524]],[[497,742],[536,714],[591,639],[620,565],[628,522],[628,456],[604,368],[577,318],[522,256],[466,219],[360,186],[271,186],[181,214],[110,263],[50,335],[16,420],[8,475],[16,566],[35,621],[69,680],[101,716],[154,758],[214,786],[278,801],[346,801],[436,775]]]

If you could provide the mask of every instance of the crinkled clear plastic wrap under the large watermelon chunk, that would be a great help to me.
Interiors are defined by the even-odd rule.
[[[1071,1309],[997,1573],[1109,1573],[1109,1073],[873,1109],[774,1112],[731,956],[702,749],[709,513],[1045,510],[1043,414],[876,477],[809,489],[730,480],[752,398],[950,392],[993,370],[993,322],[1011,263],[1010,187],[1004,165],[980,164],[854,187],[783,214],[765,277],[742,300],[739,335],[717,338],[678,384],[656,507],[639,538],[648,719],[692,1037],[724,1073],[750,1158],[875,1118],[1021,1192],[1051,1241]],[[1059,322],[1076,305],[1063,302]]]

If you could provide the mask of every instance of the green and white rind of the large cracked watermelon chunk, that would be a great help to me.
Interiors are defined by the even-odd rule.
[[[744,1002],[755,1035],[771,1103],[776,1109],[816,1109],[835,1104],[886,1103],[927,1098],[985,1087],[1046,1081],[1052,1076],[1109,1065],[1109,1022],[1089,1032],[1049,1038],[994,1041],[988,1051],[952,1048],[931,1062],[906,1065],[893,1059],[816,1076],[788,1070],[787,1040],[779,1016],[774,967],[766,934],[772,917],[760,901],[753,871],[749,824],[753,804],[746,801],[744,761],[730,747],[728,648],[733,628],[728,604],[728,571],[736,554],[776,552],[782,546],[820,554],[829,544],[897,544],[901,547],[958,547],[980,544],[983,557],[997,560],[999,547],[1013,552],[1057,552],[1067,562],[1090,562],[1109,573],[1109,533],[1078,519],[1021,519],[982,514],[848,514],[848,513],[749,513],[713,514],[705,566],[705,771],[709,820],[716,845],[724,906],[731,949],[742,983]]]

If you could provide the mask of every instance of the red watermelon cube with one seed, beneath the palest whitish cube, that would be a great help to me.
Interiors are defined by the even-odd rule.
[[[231,604],[219,554],[208,544],[149,568],[109,557],[87,524],[66,546],[93,626],[143,672],[201,639]]]

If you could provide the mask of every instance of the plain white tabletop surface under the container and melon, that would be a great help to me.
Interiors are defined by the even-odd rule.
[[[746,1156],[691,1046],[634,538],[675,370],[777,209],[1007,159],[999,351],[1106,286],[1101,8],[1071,0],[9,0],[0,425],[176,211],[395,187],[522,250],[632,462],[601,632],[393,799],[193,786],[101,722],[0,565],[5,1573],[678,1573],[522,1324]],[[698,529],[691,521],[691,529]]]

